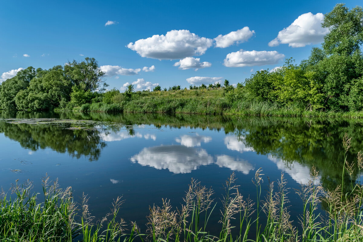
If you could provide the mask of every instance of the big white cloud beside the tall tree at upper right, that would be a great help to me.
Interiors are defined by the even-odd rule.
[[[324,15],[322,13],[304,13],[294,22],[284,28],[275,39],[269,42],[269,46],[289,44],[291,47],[304,47],[310,44],[319,44],[324,36],[329,33],[328,28],[322,28]]]

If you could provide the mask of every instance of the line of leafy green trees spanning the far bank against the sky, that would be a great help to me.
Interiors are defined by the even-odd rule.
[[[256,71],[236,87],[225,80],[208,86],[189,86],[190,90],[220,89],[233,103],[277,102],[297,105],[305,110],[361,111],[363,109],[363,10],[337,4],[325,14],[322,27],[330,32],[321,47],[313,47],[309,58],[297,64],[288,58],[271,71]],[[114,98],[118,89],[108,86],[94,58],[68,62],[49,70],[28,67],[0,85],[0,108],[5,110],[52,110],[72,108],[85,103],[117,103],[137,98],[134,86],[127,86],[125,98]],[[178,91],[180,85],[152,91]],[[144,90],[150,92],[150,90]],[[140,91],[136,92],[140,93]],[[121,94],[120,94],[121,95]],[[120,96],[117,95],[117,96]]]

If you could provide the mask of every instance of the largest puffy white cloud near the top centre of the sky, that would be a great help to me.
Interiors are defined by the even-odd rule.
[[[130,42],[127,48],[136,51],[140,56],[159,60],[175,60],[185,57],[200,56],[212,46],[213,40],[199,37],[189,30],[171,30],[165,35],[153,35]]]

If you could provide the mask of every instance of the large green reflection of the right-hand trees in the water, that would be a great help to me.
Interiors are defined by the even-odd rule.
[[[363,126],[356,120],[275,120],[245,121],[244,128],[236,131],[237,137],[255,152],[277,157],[286,163],[286,167],[294,162],[308,167],[314,165],[325,188],[334,189],[342,182],[344,133],[353,137],[350,160],[354,160],[356,153],[363,150]],[[348,176],[344,179],[347,180],[344,184],[350,184]],[[348,191],[349,187],[344,189]]]

